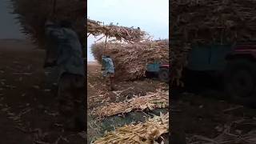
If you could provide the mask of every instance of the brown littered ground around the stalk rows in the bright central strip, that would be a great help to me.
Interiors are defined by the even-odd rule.
[[[129,82],[115,82],[114,91],[108,91],[104,79],[102,78],[101,66],[97,62],[87,63],[87,131],[88,143],[101,137],[105,131],[114,130],[115,127],[124,126],[132,122],[145,122],[152,114],[166,113],[167,109],[158,109],[150,112],[134,111],[126,114],[124,117],[112,116],[96,121],[97,117],[92,116],[92,110],[95,107],[106,105],[110,102],[123,102],[126,99],[133,98],[134,95],[144,96],[149,92],[156,90],[168,90],[168,84],[159,82],[157,78],[142,78],[140,80]],[[166,143],[168,143],[166,141]]]

